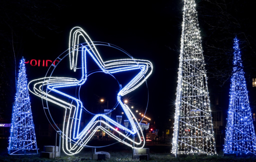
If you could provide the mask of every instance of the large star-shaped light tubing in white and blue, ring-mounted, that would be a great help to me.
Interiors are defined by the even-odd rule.
[[[79,37],[81,37],[81,36],[85,40],[86,46],[79,47]],[[71,48],[69,48],[70,69],[73,69],[74,72],[77,69],[76,66],[77,66],[79,52],[81,52],[81,50],[79,50],[79,49],[82,48],[82,52],[81,52],[82,53],[82,58],[81,58],[81,61],[82,61],[82,76],[81,76],[81,79],[76,80],[74,78],[66,78],[66,77],[49,77],[49,78],[44,78],[44,81],[42,81],[42,78],[38,79],[38,80],[31,81],[31,82],[36,82],[34,84],[34,88],[33,88],[32,93],[42,97],[43,99],[46,99],[47,101],[58,104],[61,107],[64,107],[66,109],[65,115],[68,114],[68,122],[67,122],[66,125],[65,125],[65,122],[64,122],[64,126],[63,126],[63,133],[66,136],[65,144],[64,144],[64,140],[63,140],[63,144],[62,144],[64,152],[66,154],[78,153],[82,149],[83,146],[86,146],[86,143],[88,142],[88,140],[90,140],[90,138],[92,137],[94,132],[96,130],[98,130],[98,128],[104,130],[105,132],[108,132],[101,125],[97,126],[94,129],[94,131],[92,131],[91,129],[94,126],[96,126],[96,124],[98,122],[102,122],[105,125],[108,125],[114,131],[118,132],[118,134],[127,138],[129,141],[134,142],[131,138],[128,138],[122,132],[114,129],[107,122],[104,122],[103,120],[97,120],[99,117],[105,118],[107,121],[109,121],[113,125],[115,125],[117,127],[120,127],[121,129],[123,129],[123,130],[125,130],[125,131],[127,131],[131,134],[136,134],[137,133],[138,138],[140,139],[140,135],[139,135],[138,130],[140,130],[140,132],[142,134],[142,129],[140,128],[140,125],[138,125],[139,128],[137,130],[135,122],[133,120],[133,118],[135,119],[135,116],[131,112],[130,108],[126,104],[123,104],[121,102],[121,96],[135,90],[144,81],[146,81],[146,79],[152,73],[152,68],[153,68],[152,63],[149,62],[148,60],[138,60],[138,59],[119,59],[119,60],[110,60],[110,61],[107,61],[107,62],[103,62],[103,60],[100,57],[100,54],[98,53],[95,45],[92,43],[90,37],[80,27],[75,27],[71,30],[70,38],[72,38],[72,41],[71,41],[71,39],[69,40],[69,45],[72,46]],[[81,119],[82,108],[83,108],[82,102],[79,99],[75,98],[74,96],[70,96],[68,94],[65,94],[65,93],[63,93],[63,92],[61,92],[60,90],[57,90],[57,89],[58,88],[63,88],[63,87],[79,86],[79,85],[83,85],[86,82],[86,80],[87,80],[86,56],[87,55],[90,55],[93,58],[93,60],[97,63],[97,65],[100,67],[100,69],[104,73],[113,74],[113,73],[117,73],[117,72],[140,69],[140,72],[126,86],[124,86],[117,95],[117,100],[118,100],[119,104],[121,105],[121,107],[123,108],[123,111],[126,114],[128,120],[131,123],[131,128],[132,128],[131,130],[127,129],[126,127],[124,127],[120,124],[118,124],[116,121],[113,121],[111,118],[109,118],[108,116],[106,116],[104,114],[97,114],[92,118],[92,120],[88,123],[88,125],[81,132],[79,132],[79,125],[80,125],[80,119]],[[41,81],[39,81],[39,80],[41,80]],[[42,91],[42,84],[44,86],[47,85],[47,89],[48,89],[47,92]],[[50,95],[49,93],[51,91],[56,92],[58,94],[61,94],[62,96],[66,96],[66,97],[74,100],[76,104],[72,104],[73,102],[71,104],[67,103],[64,100],[58,99],[55,96]],[[69,111],[69,113],[68,113],[68,111]],[[72,114],[71,112],[73,112],[73,116],[71,116],[71,114]],[[74,124],[73,124],[73,122],[74,122]],[[73,136],[71,136],[71,134],[72,134],[72,125],[74,125]],[[87,137],[87,135],[88,135],[87,132],[88,131],[91,131],[92,133]],[[131,145],[130,143],[127,143],[125,141],[122,141],[117,136],[115,136],[113,134],[109,134],[109,135],[112,136],[114,139],[117,139],[117,140],[125,143],[126,145],[129,145],[130,147],[133,147],[133,145]],[[69,143],[69,140],[71,140],[72,138],[74,140],[77,140],[77,141],[75,141],[74,145]],[[134,142],[134,143],[135,144],[141,144],[141,142],[142,141],[140,139],[140,141],[138,143],[137,142]],[[145,141],[143,141],[143,146],[144,146],[144,143],[145,143]],[[64,145],[66,146],[66,148],[64,148]],[[142,147],[139,147],[139,148],[142,148]],[[136,147],[134,147],[134,148],[136,148]],[[139,148],[137,148],[137,149],[139,149]],[[67,153],[67,152],[69,152],[69,153]]]

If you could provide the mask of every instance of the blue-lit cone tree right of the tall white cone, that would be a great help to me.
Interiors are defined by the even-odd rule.
[[[239,41],[234,39],[233,75],[229,99],[225,154],[252,153],[256,155],[256,138],[244,78]]]

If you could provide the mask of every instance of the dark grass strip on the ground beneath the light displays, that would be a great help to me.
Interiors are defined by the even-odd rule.
[[[110,159],[107,161],[131,161],[131,151],[128,152],[109,152]],[[88,162],[96,161],[91,159],[91,152],[86,151],[74,156],[66,156],[61,153],[61,157],[56,159],[40,158],[39,154],[36,155],[8,155],[7,151],[1,152],[0,162]],[[144,161],[144,160],[143,160]],[[256,157],[233,157],[233,156],[182,156],[179,158],[173,157],[170,153],[150,153],[149,162],[255,162]]]

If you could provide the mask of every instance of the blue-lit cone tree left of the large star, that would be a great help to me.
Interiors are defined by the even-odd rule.
[[[23,57],[19,67],[8,154],[38,154]]]

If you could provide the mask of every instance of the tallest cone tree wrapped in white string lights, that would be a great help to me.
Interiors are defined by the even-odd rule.
[[[195,0],[185,0],[172,153],[216,154]]]

